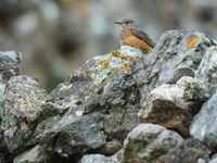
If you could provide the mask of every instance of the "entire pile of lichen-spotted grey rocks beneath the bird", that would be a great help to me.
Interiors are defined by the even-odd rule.
[[[146,55],[124,46],[90,59],[49,95],[20,74],[20,60],[3,53],[0,62],[10,66],[1,64],[0,160],[209,161],[216,151],[216,53],[202,33],[169,30]],[[189,128],[194,139],[186,139]]]

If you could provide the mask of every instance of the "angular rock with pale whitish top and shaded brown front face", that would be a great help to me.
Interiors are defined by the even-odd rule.
[[[188,101],[184,97],[186,89],[194,82],[183,76],[176,85],[163,84],[153,89],[139,111],[140,123],[158,124],[189,137],[190,124],[201,108],[200,102]]]

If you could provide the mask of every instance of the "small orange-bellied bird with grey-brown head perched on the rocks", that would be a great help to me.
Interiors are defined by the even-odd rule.
[[[130,46],[139,49],[144,54],[152,51],[155,43],[146,33],[135,23],[133,20],[124,18],[122,22],[114,22],[123,27],[119,34],[120,46]]]

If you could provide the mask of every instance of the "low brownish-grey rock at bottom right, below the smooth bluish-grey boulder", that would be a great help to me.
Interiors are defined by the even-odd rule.
[[[196,163],[199,159],[208,159],[210,150],[195,139],[187,139],[171,149],[165,163]]]

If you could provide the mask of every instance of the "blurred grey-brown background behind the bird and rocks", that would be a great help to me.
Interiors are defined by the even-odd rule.
[[[21,51],[23,74],[50,91],[89,58],[118,49],[113,22],[124,17],[155,41],[175,28],[217,37],[217,0],[0,0],[0,51]]]

